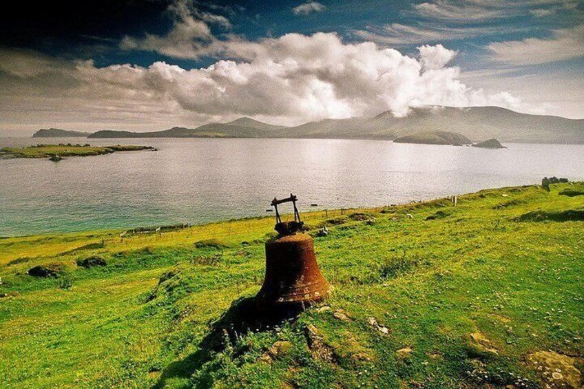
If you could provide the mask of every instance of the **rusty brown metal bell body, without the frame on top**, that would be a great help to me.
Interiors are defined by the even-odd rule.
[[[260,306],[311,304],[331,293],[305,233],[278,235],[266,242],[266,277],[255,297]]]

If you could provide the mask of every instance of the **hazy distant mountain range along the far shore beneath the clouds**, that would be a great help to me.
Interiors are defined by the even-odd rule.
[[[501,107],[431,106],[414,108],[404,118],[396,118],[388,111],[373,118],[325,119],[295,127],[239,118],[229,123],[209,123],[194,129],[174,127],[158,132],[98,131],[88,138],[393,140],[417,132],[456,132],[473,141],[497,138],[503,143],[584,143],[584,119],[520,114]]]

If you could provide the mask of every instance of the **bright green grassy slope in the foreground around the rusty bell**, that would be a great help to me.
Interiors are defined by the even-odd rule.
[[[0,293],[19,292],[0,299],[0,382],[10,388],[459,388],[504,386],[517,376],[533,382],[525,353],[584,353],[584,222],[517,221],[538,209],[544,217],[583,210],[584,196],[558,195],[566,187],[486,190],[461,196],[456,208],[437,200],[364,211],[373,224],[329,212],[331,233],[315,238],[315,248],[335,286],[326,303],[331,310],[311,308],[276,330],[238,334],[218,353],[209,343],[217,319],[262,282],[271,218],[123,243],[108,231],[0,240]],[[429,215],[434,220],[425,220]],[[325,220],[322,212],[305,219],[312,226]],[[102,239],[105,247],[83,249]],[[215,241],[194,244],[209,239]],[[93,253],[108,266],[76,268],[75,260]],[[67,275],[23,274],[55,262]],[[167,271],[174,277],[158,286]],[[333,317],[339,308],[347,321]],[[333,361],[313,357],[307,324],[320,330]],[[469,348],[476,331],[499,355]],[[258,361],[278,339],[291,341],[289,353]],[[413,353],[403,360],[395,351],[406,346]]]

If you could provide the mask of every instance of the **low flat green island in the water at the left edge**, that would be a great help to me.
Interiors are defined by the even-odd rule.
[[[50,158],[57,162],[63,157],[86,157],[101,156],[103,154],[112,154],[116,151],[140,151],[156,149],[152,146],[134,146],[134,145],[112,145],[112,146],[91,146],[91,145],[35,145],[28,147],[4,147],[0,149],[2,158]]]

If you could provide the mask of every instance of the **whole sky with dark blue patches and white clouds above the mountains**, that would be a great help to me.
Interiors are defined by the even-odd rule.
[[[238,116],[297,124],[425,104],[584,117],[583,1],[103,1],[14,12],[0,32],[0,131],[10,134]]]

